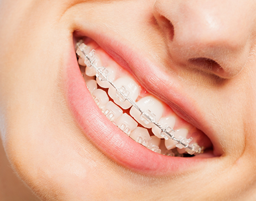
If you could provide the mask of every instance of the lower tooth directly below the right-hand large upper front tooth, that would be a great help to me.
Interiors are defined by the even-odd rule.
[[[142,127],[135,128],[134,131],[130,133],[130,137],[143,146],[147,146],[148,140],[150,139],[148,130]]]

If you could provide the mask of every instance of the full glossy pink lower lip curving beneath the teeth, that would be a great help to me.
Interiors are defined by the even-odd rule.
[[[165,156],[129,138],[103,115],[93,101],[80,73],[74,47],[70,46],[70,55],[64,64],[67,103],[85,135],[103,153],[130,170],[155,176],[189,171],[212,157],[211,153],[195,157]]]

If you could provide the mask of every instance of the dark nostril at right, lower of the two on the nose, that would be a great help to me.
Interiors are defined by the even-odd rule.
[[[210,58],[191,58],[189,59],[189,62],[193,64],[193,66],[196,66],[197,68],[200,68],[202,70],[207,70],[210,72],[221,72],[223,69],[216,61],[210,59]]]

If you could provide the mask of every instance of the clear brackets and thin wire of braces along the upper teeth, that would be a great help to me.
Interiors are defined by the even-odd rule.
[[[119,101],[124,102],[124,101],[129,101],[130,104],[132,104],[137,110],[142,113],[140,115],[140,119],[144,121],[146,124],[153,123],[155,126],[161,129],[161,137],[164,139],[172,139],[176,141],[176,147],[179,149],[186,148],[186,152],[190,155],[194,154],[201,154],[203,153],[203,147],[199,146],[197,143],[194,144],[189,144],[192,141],[192,137],[189,139],[183,138],[181,136],[175,137],[176,131],[171,128],[171,127],[161,127],[161,125],[155,121],[155,115],[152,113],[150,110],[145,110],[143,111],[135,101],[133,101],[129,97],[129,91],[124,87],[121,86],[120,88],[117,88],[117,86],[114,85],[114,83],[108,79],[109,72],[108,70],[101,66],[97,67],[97,58],[95,56],[95,50],[92,50],[89,52],[89,47],[83,44],[83,41],[80,40],[76,44],[76,53],[79,55],[81,58],[85,59],[85,64],[88,68],[95,68],[96,70],[96,77],[100,79],[100,81],[107,81],[109,84],[111,84],[115,89],[116,89],[116,96],[119,98]]]

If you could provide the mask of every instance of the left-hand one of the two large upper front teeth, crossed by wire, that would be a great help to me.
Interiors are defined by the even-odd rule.
[[[114,82],[114,85],[120,90],[122,90],[123,94],[128,95],[134,101],[139,96],[139,85],[129,77],[118,78]],[[130,104],[128,100],[124,99],[124,97],[121,94],[116,93],[116,89],[114,89],[113,86],[109,87],[108,95],[112,97],[112,99],[114,100],[114,102],[116,102],[117,105],[121,106],[124,109],[128,109],[130,106],[132,106],[132,104]]]

